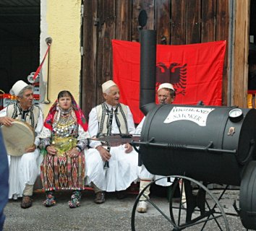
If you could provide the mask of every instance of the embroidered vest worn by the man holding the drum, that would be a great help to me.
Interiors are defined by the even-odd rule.
[[[34,129],[38,124],[39,113],[40,108],[35,105],[32,105],[30,110],[27,110],[27,113],[25,113],[25,122],[29,123]],[[22,119],[22,111],[21,108],[18,107],[17,103],[7,106],[7,116],[14,119]]]

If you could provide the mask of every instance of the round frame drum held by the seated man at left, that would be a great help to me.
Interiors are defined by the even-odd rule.
[[[12,126],[1,126],[7,154],[15,157],[22,156],[25,149],[33,147],[35,133],[33,128],[23,121],[13,121]]]

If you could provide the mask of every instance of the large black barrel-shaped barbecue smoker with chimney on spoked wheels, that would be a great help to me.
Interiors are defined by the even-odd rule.
[[[239,186],[236,212],[245,228],[256,230],[256,110],[202,104],[155,105],[155,31],[142,30],[140,40],[140,109],[146,118],[140,141],[134,145],[140,146],[142,163],[150,173],[178,178],[174,185],[182,182],[180,190],[187,197],[187,208],[181,204],[177,208],[179,214],[187,213],[184,223],[180,222],[179,214],[178,221],[174,219],[171,200],[170,217],[157,208],[158,211],[171,223],[171,230],[184,230],[200,222],[216,221],[219,216],[213,214],[218,207],[217,214],[223,219],[223,225],[219,223],[218,228],[229,230],[219,203],[221,197],[214,199],[207,185]],[[132,230],[135,230],[135,209],[142,193],[132,212]],[[214,201],[212,206],[208,205],[209,198]]]

